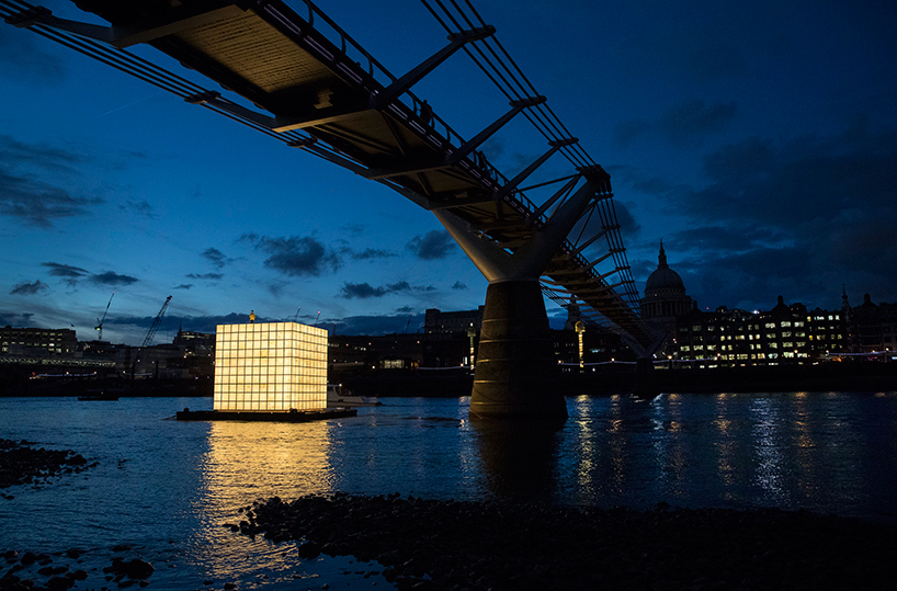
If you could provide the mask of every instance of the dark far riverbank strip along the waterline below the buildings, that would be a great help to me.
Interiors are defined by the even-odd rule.
[[[465,367],[396,370],[329,376],[357,396],[456,398],[469,396],[474,376]],[[645,386],[645,380],[640,386]],[[635,365],[615,363],[566,367],[558,387],[567,396],[606,396],[635,390]],[[897,363],[845,362],[819,365],[774,365],[697,370],[682,364],[657,365],[647,391],[657,394],[777,393],[777,391],[897,391]],[[120,379],[57,376],[32,379],[19,375],[0,379],[0,396],[86,396],[116,390],[123,397],[211,397],[213,380]],[[645,391],[645,388],[639,388]]]

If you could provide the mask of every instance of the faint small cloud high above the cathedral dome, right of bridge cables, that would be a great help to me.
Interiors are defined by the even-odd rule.
[[[724,130],[738,113],[736,103],[705,105],[693,99],[674,105],[657,121],[628,120],[616,125],[617,144],[629,146],[644,136],[663,137],[675,146],[699,147],[711,134]]]

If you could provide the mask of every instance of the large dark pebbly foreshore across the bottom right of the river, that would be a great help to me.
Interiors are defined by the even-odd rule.
[[[241,511],[243,512],[243,511]],[[246,535],[376,560],[398,589],[886,589],[897,526],[776,509],[578,509],[503,501],[274,497]]]

